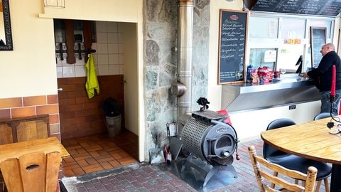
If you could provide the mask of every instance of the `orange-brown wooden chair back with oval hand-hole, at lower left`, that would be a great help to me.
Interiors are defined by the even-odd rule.
[[[6,159],[0,168],[9,192],[59,191],[58,174],[61,156],[49,154],[25,154],[18,159]]]

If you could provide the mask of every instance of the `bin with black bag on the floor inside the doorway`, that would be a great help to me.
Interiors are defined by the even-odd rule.
[[[102,109],[105,114],[105,122],[107,124],[107,132],[109,137],[115,137],[121,133],[121,112],[119,104],[112,97],[108,97],[103,102]]]

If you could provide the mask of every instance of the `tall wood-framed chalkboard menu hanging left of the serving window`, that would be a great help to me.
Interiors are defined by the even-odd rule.
[[[218,84],[244,82],[247,12],[220,10]]]

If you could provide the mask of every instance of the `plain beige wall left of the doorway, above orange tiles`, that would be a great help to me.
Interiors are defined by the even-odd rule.
[[[0,98],[57,94],[53,20],[40,0],[9,1],[13,51],[0,51]]]

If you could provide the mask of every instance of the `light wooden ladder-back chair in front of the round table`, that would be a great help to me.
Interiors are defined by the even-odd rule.
[[[314,191],[316,176],[318,174],[318,169],[316,169],[314,166],[308,167],[307,174],[303,174],[299,171],[286,169],[283,166],[266,161],[266,159],[256,154],[256,149],[254,146],[249,146],[248,149],[251,158],[251,164],[254,168],[254,174],[256,175],[259,191]],[[261,169],[261,165],[266,167],[266,169]],[[269,174],[267,172],[267,170],[269,169],[270,171],[275,171],[278,174],[281,174],[281,176],[288,176],[289,178],[298,178],[302,180],[302,186],[296,183],[290,183],[283,179],[283,177],[280,178],[278,176]],[[266,182],[265,180],[268,182]],[[270,183],[275,183],[276,186],[281,187],[281,189],[272,188],[269,185]]]

